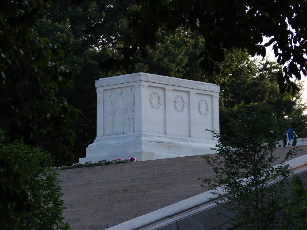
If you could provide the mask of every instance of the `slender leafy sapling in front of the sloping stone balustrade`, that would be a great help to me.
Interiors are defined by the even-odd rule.
[[[265,114],[241,117],[231,124],[236,132],[223,145],[217,144],[217,155],[203,157],[215,173],[203,178],[203,183],[220,196],[217,204],[234,213],[229,218],[239,229],[277,229],[284,221],[275,214],[288,207],[286,179],[291,172],[285,162],[297,149],[291,149],[284,159],[274,156],[278,135],[271,120]],[[277,160],[281,165],[273,167]],[[216,189],[220,186],[225,195]]]

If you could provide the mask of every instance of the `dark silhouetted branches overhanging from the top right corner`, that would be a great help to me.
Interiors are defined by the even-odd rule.
[[[266,56],[265,47],[274,44],[274,54],[282,67],[278,83],[283,93],[299,91],[292,77],[307,75],[306,17],[307,3],[299,1],[179,1],[137,0],[138,7],[128,12],[132,29],[125,39],[121,59],[109,59],[106,65],[133,66],[131,56],[147,47],[154,48],[160,28],[169,32],[184,27],[197,31],[204,38],[204,52],[200,53],[200,66],[220,73],[218,63],[225,59],[225,50],[233,47],[247,49],[251,56]],[[270,40],[262,44],[263,36]]]

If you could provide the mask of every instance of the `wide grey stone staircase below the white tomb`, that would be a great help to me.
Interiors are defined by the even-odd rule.
[[[284,156],[292,147],[278,148]],[[295,157],[305,155],[307,146]],[[278,164],[279,162],[276,162]],[[207,191],[200,156],[60,170],[65,221],[72,230],[106,229]]]

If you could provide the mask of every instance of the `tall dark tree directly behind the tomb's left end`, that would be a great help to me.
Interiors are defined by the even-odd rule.
[[[99,64],[118,56],[115,49],[122,46],[119,38],[127,33],[124,15],[129,6],[129,1],[87,0],[80,4],[60,1],[51,4],[46,19],[36,27],[40,36],[61,44],[65,63],[81,68],[75,76],[74,88],[57,93],[83,113],[70,127],[76,133],[75,145],[70,148],[75,161],[85,156],[85,148],[96,137],[95,80],[126,73],[117,71],[107,75]]]

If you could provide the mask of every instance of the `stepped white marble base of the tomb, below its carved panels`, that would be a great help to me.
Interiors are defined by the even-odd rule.
[[[211,150],[216,144],[216,140],[201,140],[156,133],[127,133],[96,138],[94,143],[86,149],[89,157],[80,158],[79,162],[125,159],[128,155],[138,161],[144,161],[212,154],[216,153],[215,150]]]

